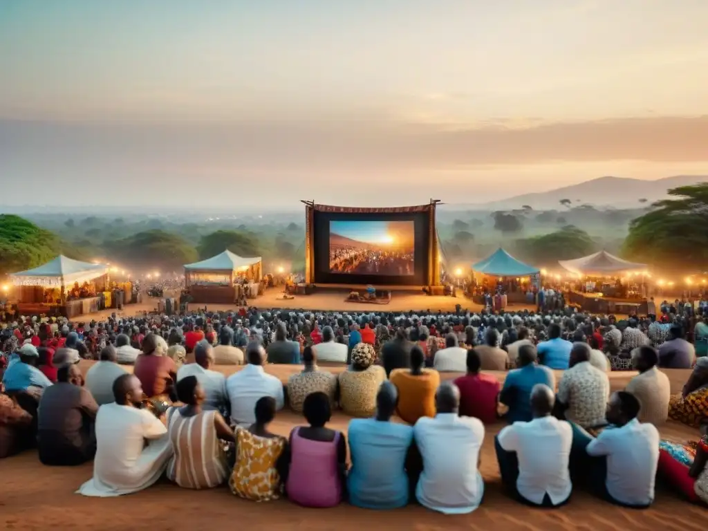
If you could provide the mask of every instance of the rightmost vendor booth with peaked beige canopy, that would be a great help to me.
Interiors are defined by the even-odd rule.
[[[595,314],[646,314],[646,264],[607,251],[559,261],[573,273],[568,302]]]

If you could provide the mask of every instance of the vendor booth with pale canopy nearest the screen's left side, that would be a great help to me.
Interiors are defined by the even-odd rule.
[[[261,257],[242,258],[231,251],[184,266],[185,288],[196,303],[234,304],[261,293]]]

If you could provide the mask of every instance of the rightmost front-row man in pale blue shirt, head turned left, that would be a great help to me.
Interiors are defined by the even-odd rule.
[[[659,457],[658,430],[639,423],[640,407],[633,394],[618,391],[607,404],[610,426],[597,438],[573,426],[571,462],[573,455],[584,461],[573,467],[578,478],[586,479],[600,498],[631,508],[651,506]]]

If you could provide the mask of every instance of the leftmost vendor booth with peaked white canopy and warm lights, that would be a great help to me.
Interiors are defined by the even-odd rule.
[[[66,256],[38,268],[12,273],[18,287],[18,312],[72,319],[110,307],[108,265],[81,262]]]

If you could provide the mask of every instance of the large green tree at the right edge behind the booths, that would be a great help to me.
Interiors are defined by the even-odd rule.
[[[708,261],[708,183],[668,190],[671,199],[629,224],[622,246],[632,261],[705,269]]]

